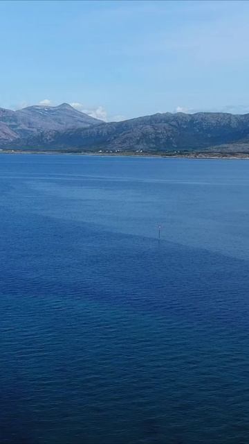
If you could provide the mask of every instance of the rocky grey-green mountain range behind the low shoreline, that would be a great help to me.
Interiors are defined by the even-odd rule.
[[[0,108],[4,150],[249,153],[249,114],[166,112],[104,123],[67,103]]]

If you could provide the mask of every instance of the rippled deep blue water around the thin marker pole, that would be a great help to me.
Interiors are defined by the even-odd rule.
[[[0,156],[1,444],[248,443],[248,169]]]

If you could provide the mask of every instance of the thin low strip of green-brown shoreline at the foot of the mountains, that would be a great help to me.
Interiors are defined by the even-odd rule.
[[[86,151],[38,151],[38,150],[4,150],[1,149],[0,154],[46,154],[46,155],[96,155],[111,157],[161,157],[165,159],[227,159],[227,160],[246,160],[249,159],[249,153],[99,153]]]

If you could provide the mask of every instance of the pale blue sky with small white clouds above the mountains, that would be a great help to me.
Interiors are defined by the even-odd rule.
[[[0,1],[0,107],[249,112],[249,1]]]

